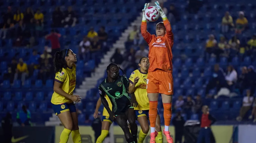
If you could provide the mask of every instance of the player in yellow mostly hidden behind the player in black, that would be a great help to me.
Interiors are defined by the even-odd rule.
[[[108,101],[108,106],[110,108],[110,110],[112,111],[112,103],[109,99],[109,97],[107,95],[105,95],[106,100]],[[96,104],[96,109],[95,112],[93,114],[94,118],[96,119],[98,117],[98,111],[101,105],[101,99],[99,98],[99,100],[97,101]],[[97,138],[96,143],[101,143],[103,142],[103,140],[106,138],[106,136],[108,135],[109,132],[109,128],[110,125],[112,124],[112,120],[109,118],[109,114],[107,109],[104,107],[103,109],[103,113],[102,113],[102,126],[101,126],[101,134],[100,136]]]

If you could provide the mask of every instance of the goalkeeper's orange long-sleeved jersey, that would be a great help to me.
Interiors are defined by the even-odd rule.
[[[172,73],[173,33],[168,19],[164,20],[166,34],[164,36],[151,35],[147,31],[147,23],[142,21],[141,34],[149,45],[149,69],[152,72],[160,69]]]

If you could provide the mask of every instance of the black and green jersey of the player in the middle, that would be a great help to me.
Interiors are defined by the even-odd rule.
[[[112,111],[115,115],[124,114],[131,107],[131,98],[127,92],[129,81],[125,76],[118,75],[113,83],[109,83],[108,79],[104,79],[99,86],[100,96],[109,97],[112,103]]]

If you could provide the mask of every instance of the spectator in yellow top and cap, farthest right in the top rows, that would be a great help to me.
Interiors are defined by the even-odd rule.
[[[238,19],[236,19],[236,33],[241,34],[242,31],[247,26],[247,24],[248,24],[248,21],[244,17],[244,12],[240,11],[239,12],[239,17],[238,17]]]

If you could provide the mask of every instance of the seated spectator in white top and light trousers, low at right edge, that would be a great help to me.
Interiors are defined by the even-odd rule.
[[[246,90],[246,96],[243,97],[243,106],[240,109],[239,116],[236,118],[237,121],[242,121],[244,115],[251,109],[253,103],[253,96],[251,96],[251,90]]]

